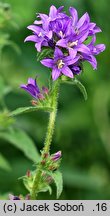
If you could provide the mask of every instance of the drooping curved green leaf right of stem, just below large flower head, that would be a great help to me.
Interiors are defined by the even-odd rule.
[[[78,79],[76,79],[76,78],[69,79],[69,78],[62,77],[62,82],[70,84],[70,85],[76,85],[79,88],[79,90],[81,91],[81,93],[83,94],[84,99],[87,100],[86,88],[84,87],[84,85]]]

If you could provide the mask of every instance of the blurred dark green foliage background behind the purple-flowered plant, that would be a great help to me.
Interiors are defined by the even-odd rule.
[[[97,43],[105,43],[107,47],[106,51],[97,57],[98,70],[93,71],[91,66],[85,63],[84,73],[79,76],[88,92],[86,102],[75,86],[63,85],[60,88],[59,109],[51,149],[52,153],[62,150],[63,154],[61,170],[64,190],[60,199],[110,199],[109,1],[2,2],[9,3],[12,10],[12,23],[8,25],[7,22],[3,32],[8,33],[10,40],[17,46],[5,46],[0,59],[0,94],[4,92],[4,97],[0,96],[0,199],[7,199],[8,193],[12,192],[16,195],[27,193],[18,178],[28,169],[33,169],[33,162],[25,157],[16,145],[10,145],[11,141],[8,138],[2,136],[2,132],[7,131],[10,124],[3,117],[3,99],[10,111],[29,106],[31,97],[19,88],[20,84],[26,83],[28,77],[34,78],[36,74],[39,75],[40,86],[48,84],[50,72],[36,61],[34,44],[24,44],[24,39],[31,34],[26,27],[33,23],[36,13],[48,13],[52,4],[57,7],[64,5],[65,11],[70,6],[76,7],[79,16],[87,11],[91,20],[102,29],[102,33],[97,34]],[[16,117],[13,124],[15,128],[23,130],[40,151],[47,122],[48,114],[39,111]],[[17,139],[22,145],[19,136]],[[52,196],[41,193],[39,199],[55,199],[55,192]]]

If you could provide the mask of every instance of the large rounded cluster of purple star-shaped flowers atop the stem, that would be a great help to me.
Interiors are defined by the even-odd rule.
[[[81,72],[84,61],[88,61],[93,69],[97,69],[94,56],[105,49],[104,44],[95,45],[96,33],[101,32],[101,29],[90,22],[88,13],[78,19],[75,8],[69,8],[70,16],[62,10],[63,6],[58,9],[51,6],[49,15],[37,14],[37,20],[28,26],[33,35],[25,39],[35,42],[38,52],[42,51],[42,47],[50,47],[53,50],[52,58],[47,56],[41,61],[44,66],[52,68],[53,80],[62,74],[73,78]]]

